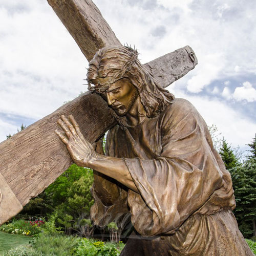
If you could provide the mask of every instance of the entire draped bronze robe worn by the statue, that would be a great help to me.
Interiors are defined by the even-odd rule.
[[[174,99],[137,126],[116,125],[106,155],[122,158],[139,191],[105,177],[91,217],[104,226],[131,215],[121,255],[253,255],[232,214],[232,182],[195,107]]]

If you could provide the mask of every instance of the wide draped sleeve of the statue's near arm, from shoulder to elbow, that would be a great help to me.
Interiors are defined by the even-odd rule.
[[[205,127],[193,105],[176,104],[161,121],[161,155],[124,159],[140,192],[129,191],[128,202],[132,223],[142,236],[174,233],[222,186]]]

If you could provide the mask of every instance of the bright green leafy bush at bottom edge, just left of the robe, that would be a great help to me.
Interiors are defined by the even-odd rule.
[[[123,249],[124,244],[119,243],[104,243],[93,239],[79,239],[78,246],[74,248],[73,255],[76,256],[118,256]]]

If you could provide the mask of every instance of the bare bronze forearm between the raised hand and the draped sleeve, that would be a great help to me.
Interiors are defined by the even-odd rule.
[[[123,159],[97,154],[96,157],[92,157],[87,161],[86,167],[109,176],[138,193],[138,189]]]

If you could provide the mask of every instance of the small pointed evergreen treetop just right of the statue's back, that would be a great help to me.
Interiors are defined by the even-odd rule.
[[[230,145],[228,145],[224,138],[222,139],[219,153],[227,170],[240,165],[239,159],[234,153],[234,150],[231,148]]]

